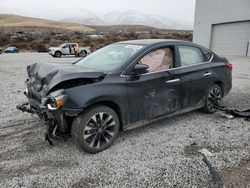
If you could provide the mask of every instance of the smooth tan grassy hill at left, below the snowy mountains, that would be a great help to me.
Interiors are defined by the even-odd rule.
[[[52,21],[47,19],[24,17],[12,14],[0,14],[0,29],[7,31],[14,30],[49,30],[49,31],[81,31],[90,32],[94,31],[93,28],[84,26],[77,23],[68,23],[61,21]]]

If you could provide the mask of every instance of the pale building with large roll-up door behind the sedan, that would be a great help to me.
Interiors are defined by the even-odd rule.
[[[250,56],[250,0],[196,0],[193,41],[223,56]]]

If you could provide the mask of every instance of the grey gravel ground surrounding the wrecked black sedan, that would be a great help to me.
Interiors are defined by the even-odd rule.
[[[25,100],[26,66],[73,62],[48,54],[0,55],[0,187],[250,187],[250,122],[199,111],[122,132],[90,155],[69,139],[44,142],[44,127],[15,106]],[[250,107],[250,59],[232,58],[226,106]],[[207,155],[198,150],[207,149]],[[205,157],[204,157],[205,156]]]

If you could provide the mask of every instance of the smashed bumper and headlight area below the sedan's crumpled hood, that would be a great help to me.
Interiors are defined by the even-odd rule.
[[[72,118],[77,116],[82,109],[69,109],[64,106],[67,95],[64,90],[57,90],[46,97],[38,97],[27,89],[24,92],[28,101],[17,105],[22,112],[37,114],[46,126],[45,140],[52,145],[51,139],[67,138],[70,134],[69,125]]]

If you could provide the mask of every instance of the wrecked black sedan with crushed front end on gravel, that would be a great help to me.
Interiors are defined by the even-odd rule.
[[[108,148],[120,130],[201,109],[214,113],[232,87],[232,64],[197,44],[135,40],[106,46],[74,64],[27,67],[28,101],[47,136],[72,135],[84,151]]]

